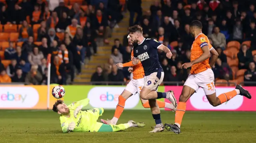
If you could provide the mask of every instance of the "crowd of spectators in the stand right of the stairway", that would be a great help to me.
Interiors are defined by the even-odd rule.
[[[190,73],[190,69],[181,69],[181,65],[190,62],[190,47],[194,38],[190,35],[189,24],[193,20],[202,22],[203,33],[218,51],[219,58],[212,67],[216,82],[224,83],[218,85],[226,86],[227,81],[235,84],[256,82],[256,1],[156,0],[144,15],[140,0],[133,3],[133,9],[129,8],[129,1],[132,0],[128,0],[130,25],[140,24],[144,37],[156,39],[172,51],[171,59],[158,51],[165,82],[184,82]],[[134,13],[137,13],[135,23]],[[132,49],[128,46],[127,35],[124,35],[122,43],[115,39],[108,63],[97,67],[91,81],[125,82],[132,78],[128,68],[118,69],[115,66],[116,63],[131,60]]]

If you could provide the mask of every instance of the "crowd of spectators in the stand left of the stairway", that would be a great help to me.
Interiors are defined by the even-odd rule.
[[[0,0],[0,82],[66,84],[120,20],[118,0]],[[92,51],[90,47],[92,47]]]

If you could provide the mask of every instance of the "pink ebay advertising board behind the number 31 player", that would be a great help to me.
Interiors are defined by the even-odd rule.
[[[178,100],[183,86],[165,86],[165,91],[173,90],[174,96]],[[204,90],[199,88],[198,92],[194,93],[187,101],[187,111],[256,111],[256,98],[254,95],[254,88],[252,86],[244,87],[252,94],[252,99],[248,99],[244,96],[237,95],[230,101],[225,102],[217,107],[213,107],[207,100]],[[216,87],[216,95],[219,96],[222,93],[234,90],[234,87]],[[256,92],[255,92],[256,93]],[[166,102],[169,102],[165,99]],[[168,109],[166,109],[168,110]]]

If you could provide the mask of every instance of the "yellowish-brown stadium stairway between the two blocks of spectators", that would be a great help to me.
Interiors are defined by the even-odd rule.
[[[143,11],[149,10],[152,2],[154,0],[142,0]],[[122,42],[124,35],[127,33],[129,16],[129,12],[124,13],[123,20],[118,24],[119,27],[114,28],[112,31],[112,37],[109,38],[110,43],[108,45],[104,44],[102,39],[97,39],[98,55],[92,56],[91,60],[82,67],[81,74],[75,77],[73,84],[86,84],[86,82],[90,82],[92,74],[96,71],[96,67],[98,65],[103,67],[108,62],[112,46],[114,45],[114,39],[118,38]]]

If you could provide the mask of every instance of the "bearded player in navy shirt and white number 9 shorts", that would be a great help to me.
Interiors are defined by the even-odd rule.
[[[156,126],[150,132],[156,133],[164,131],[164,126],[160,117],[160,108],[156,104],[156,99],[166,98],[170,100],[175,109],[177,108],[177,101],[174,98],[173,91],[156,92],[158,86],[164,79],[164,71],[158,60],[158,49],[164,51],[168,59],[172,57],[172,53],[170,49],[158,41],[144,38],[142,35],[142,27],[139,25],[130,27],[129,32],[134,46],[134,58],[132,59],[132,64],[136,65],[141,61],[145,73],[144,86],[140,92],[140,98],[148,100],[152,116],[156,122]]]

